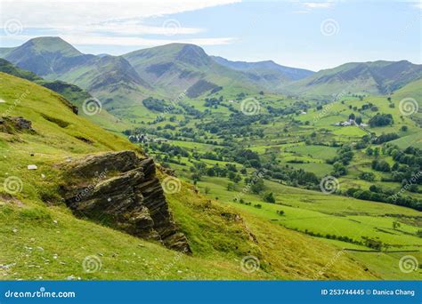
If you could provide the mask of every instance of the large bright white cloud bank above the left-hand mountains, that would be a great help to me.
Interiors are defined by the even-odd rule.
[[[136,42],[147,45],[155,44],[156,41],[148,42],[142,38],[144,35],[198,35],[206,31],[206,28],[187,27],[180,20],[171,19],[167,22],[168,15],[239,1],[1,0],[0,23],[3,25],[7,20],[19,20],[26,33],[30,31],[35,36],[69,36],[77,44],[81,44],[77,40],[82,39],[88,44],[104,44],[101,41],[109,44],[115,41],[124,45],[134,45]],[[158,25],[151,26],[147,21],[156,21],[154,24]],[[204,43],[224,44],[230,39],[206,39]]]

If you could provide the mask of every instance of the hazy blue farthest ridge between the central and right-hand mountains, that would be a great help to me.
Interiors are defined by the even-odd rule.
[[[314,74],[314,72],[303,68],[280,66],[272,60],[246,62],[226,60],[223,57],[218,56],[211,56],[211,58],[224,67],[246,73],[251,80],[264,86],[272,84],[280,85],[281,83],[300,80]]]

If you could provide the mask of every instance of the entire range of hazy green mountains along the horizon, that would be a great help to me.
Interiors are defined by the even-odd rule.
[[[341,92],[385,94],[422,78],[422,65],[401,61],[345,63],[312,72],[272,60],[231,61],[209,56],[194,44],[166,44],[121,56],[79,52],[60,37],[38,37],[0,57],[20,68],[77,84],[105,108],[130,108],[149,96],[197,98],[210,92],[282,92],[326,98]]]

